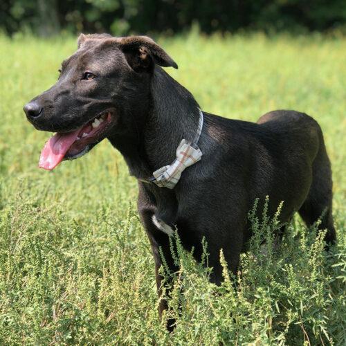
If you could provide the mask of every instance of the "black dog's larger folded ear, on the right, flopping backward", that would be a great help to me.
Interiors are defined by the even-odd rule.
[[[158,46],[150,37],[129,36],[119,37],[118,47],[125,54],[127,62],[135,71],[144,71],[152,64],[178,69],[172,57]]]

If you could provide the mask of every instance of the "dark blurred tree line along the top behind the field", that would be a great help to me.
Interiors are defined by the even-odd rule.
[[[68,32],[113,35],[188,30],[302,33],[341,28],[345,0],[1,0],[0,30],[42,36]]]

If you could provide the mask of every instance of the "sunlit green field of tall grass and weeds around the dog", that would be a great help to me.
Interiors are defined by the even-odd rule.
[[[49,134],[35,131],[22,107],[55,82],[75,39],[0,37],[0,345],[345,345],[346,39],[190,34],[159,42],[179,64],[169,73],[205,111],[255,121],[296,109],[320,122],[338,245],[326,255],[296,217],[273,249],[275,222],[253,220],[258,237],[242,275],[230,278],[225,267],[221,287],[179,250],[169,334],[156,313],[136,181],[120,154],[104,140],[54,172],[37,168]]]

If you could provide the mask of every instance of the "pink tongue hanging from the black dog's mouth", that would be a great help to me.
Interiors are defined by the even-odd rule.
[[[59,165],[79,133],[80,129],[69,134],[55,134],[51,137],[42,149],[39,167],[45,170],[53,170],[53,168]]]

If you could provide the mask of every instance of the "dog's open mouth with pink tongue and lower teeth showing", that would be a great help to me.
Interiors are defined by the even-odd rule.
[[[53,170],[62,160],[73,160],[89,152],[95,143],[104,138],[112,118],[111,111],[103,111],[75,131],[57,132],[44,145],[39,167]]]

